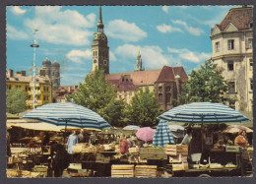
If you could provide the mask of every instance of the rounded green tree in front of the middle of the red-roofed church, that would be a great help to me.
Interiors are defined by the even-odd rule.
[[[157,124],[157,116],[160,115],[160,106],[157,97],[147,87],[143,92],[137,92],[128,105],[127,117],[136,125],[146,127]]]

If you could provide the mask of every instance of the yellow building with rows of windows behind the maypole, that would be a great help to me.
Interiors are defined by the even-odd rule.
[[[32,109],[33,85],[32,76],[26,71],[16,72],[9,70],[6,73],[6,89],[22,89],[27,96],[27,108]],[[35,76],[35,106],[52,102],[51,81],[47,76]]]

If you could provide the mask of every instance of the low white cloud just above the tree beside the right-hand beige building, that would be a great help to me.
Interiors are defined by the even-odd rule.
[[[200,62],[205,61],[211,57],[211,53],[193,52],[187,48],[175,49],[175,48],[167,47],[167,50],[170,53],[178,54],[178,57],[185,59],[187,61],[191,61],[193,63],[200,63]]]

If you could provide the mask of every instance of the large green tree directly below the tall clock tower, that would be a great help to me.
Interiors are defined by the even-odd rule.
[[[67,96],[67,99],[96,111],[107,122],[115,124],[122,119],[125,106],[123,101],[115,99],[115,90],[114,86],[107,83],[103,70],[96,70],[88,75],[85,83],[80,83],[78,91]]]

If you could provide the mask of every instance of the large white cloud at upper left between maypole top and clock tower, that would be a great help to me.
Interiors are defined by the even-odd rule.
[[[54,44],[89,45],[89,37],[95,26],[96,15],[83,16],[74,10],[62,11],[60,6],[35,7],[34,19],[26,19],[25,26],[28,30],[36,32],[38,40]]]

